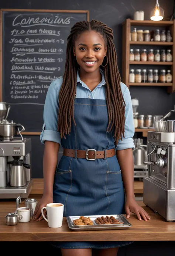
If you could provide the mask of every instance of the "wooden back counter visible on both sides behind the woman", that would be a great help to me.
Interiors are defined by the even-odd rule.
[[[43,179],[33,179],[33,187],[30,195],[42,195],[44,183]],[[143,181],[134,181],[134,194],[143,194]]]

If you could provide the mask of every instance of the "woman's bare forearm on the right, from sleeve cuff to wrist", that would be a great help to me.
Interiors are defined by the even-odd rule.
[[[134,197],[134,160],[133,150],[124,149],[116,151],[117,159],[121,168],[126,198]]]

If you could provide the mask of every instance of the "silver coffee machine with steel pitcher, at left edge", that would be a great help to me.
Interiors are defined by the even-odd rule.
[[[7,120],[9,111],[10,105],[0,102],[0,198],[28,198],[32,189],[31,139],[21,135],[24,126]]]

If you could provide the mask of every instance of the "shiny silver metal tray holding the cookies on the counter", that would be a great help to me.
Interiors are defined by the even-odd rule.
[[[110,214],[110,215],[83,215],[84,217],[90,217],[90,219],[93,221],[93,225],[82,225],[82,226],[75,226],[73,224],[73,220],[74,219],[79,219],[79,216],[68,216],[66,217],[67,222],[68,222],[68,226],[70,229],[74,230],[74,231],[88,231],[88,230],[107,230],[107,229],[127,229],[130,228],[132,225],[131,223],[127,220],[127,218],[123,215],[123,214]],[[98,225],[95,222],[96,218],[100,218],[100,217],[106,217],[106,216],[114,216],[114,218],[118,219],[120,222],[124,222],[123,224],[109,224],[109,225]]]

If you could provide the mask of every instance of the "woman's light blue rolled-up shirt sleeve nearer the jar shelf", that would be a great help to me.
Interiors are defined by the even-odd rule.
[[[125,85],[126,86],[126,85]],[[134,149],[134,140],[133,136],[135,133],[134,129],[134,119],[133,119],[133,106],[131,102],[131,95],[130,91],[127,88],[127,86],[124,89],[124,94],[123,94],[124,101],[126,103],[125,106],[125,125],[124,125],[124,138],[122,140],[119,140],[119,143],[116,147],[116,150],[123,150],[123,149]]]

